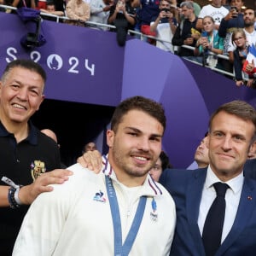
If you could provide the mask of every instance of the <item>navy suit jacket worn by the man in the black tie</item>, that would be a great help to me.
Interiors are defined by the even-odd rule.
[[[170,255],[205,255],[197,225],[201,191],[207,168],[166,170],[160,177],[171,193],[177,209],[177,226]],[[245,177],[236,219],[216,256],[256,255],[256,181]]]

